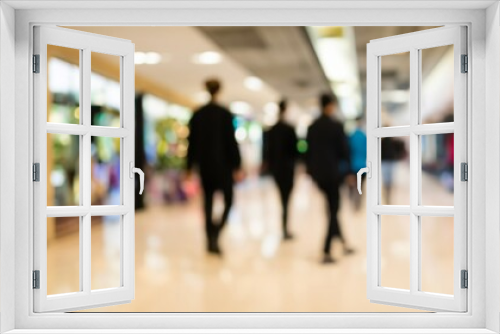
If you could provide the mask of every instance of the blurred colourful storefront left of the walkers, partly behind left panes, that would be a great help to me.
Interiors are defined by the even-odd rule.
[[[77,50],[49,47],[48,121],[80,123],[79,53]],[[93,68],[102,67],[100,74],[91,74],[92,124],[117,127],[120,124],[119,63],[109,66],[113,56],[94,59]],[[57,73],[57,75],[50,75]],[[198,193],[195,184],[182,186],[181,170],[187,152],[187,124],[191,109],[168,102],[153,94],[139,94],[143,128],[136,131],[136,149],[145,157],[149,174],[146,202],[182,202]],[[109,137],[91,138],[92,205],[117,205],[120,202],[120,140]],[[47,204],[56,206],[80,203],[79,137],[64,134],[47,136]],[[93,220],[98,221],[100,219]],[[51,217],[48,219],[48,241],[71,233],[78,233],[77,218]]]

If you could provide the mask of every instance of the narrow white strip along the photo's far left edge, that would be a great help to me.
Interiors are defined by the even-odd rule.
[[[15,11],[0,3],[0,332],[14,328],[14,127]],[[12,270],[10,270],[12,269]]]

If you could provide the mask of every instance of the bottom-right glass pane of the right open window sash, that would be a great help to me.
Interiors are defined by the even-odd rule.
[[[421,217],[421,290],[453,294],[453,217]]]

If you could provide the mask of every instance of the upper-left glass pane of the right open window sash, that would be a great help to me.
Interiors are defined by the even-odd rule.
[[[380,57],[381,126],[410,124],[410,52]]]

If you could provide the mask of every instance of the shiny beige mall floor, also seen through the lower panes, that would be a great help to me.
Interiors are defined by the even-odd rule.
[[[408,196],[406,180],[400,168],[394,196]],[[437,200],[451,196],[434,179],[427,179],[426,185]],[[339,261],[331,266],[319,264],[325,208],[305,175],[298,176],[292,196],[290,224],[296,239],[289,243],[280,241],[280,209],[272,180],[250,179],[237,187],[235,206],[222,237],[222,259],[205,253],[199,200],[138,212],[136,298],[130,304],[92,311],[415,312],[367,300],[366,214],[364,209],[354,212],[343,195],[341,223],[356,253],[343,257],[335,244],[333,253]],[[409,227],[397,217],[384,219],[382,284],[404,288],[409,285]],[[93,257],[93,268],[101,271],[93,272],[92,280],[98,286],[112,285],[118,272],[116,252],[110,250],[113,243],[106,237],[110,235],[107,229],[113,228],[113,224],[103,224],[92,236],[93,254],[99,254]],[[452,222],[425,223],[422,233],[422,286],[427,291],[449,292]],[[71,258],[78,254],[77,247],[76,236],[50,245],[49,290],[57,291],[70,279],[62,272],[78,273],[74,256]]]

